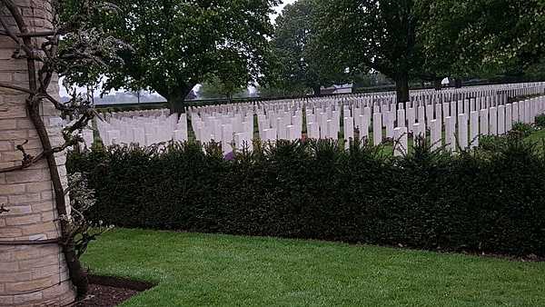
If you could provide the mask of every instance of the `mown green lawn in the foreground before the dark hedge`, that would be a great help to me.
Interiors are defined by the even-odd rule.
[[[123,306],[545,306],[545,263],[342,243],[117,229],[94,273],[157,282]]]

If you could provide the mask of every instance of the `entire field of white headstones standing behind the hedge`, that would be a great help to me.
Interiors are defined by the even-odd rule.
[[[191,119],[196,140],[220,142],[223,152],[229,153],[244,146],[252,149],[256,121],[262,141],[300,139],[306,126],[309,138],[337,139],[342,133],[348,140],[356,133],[361,138],[372,133],[374,144],[381,144],[384,137],[392,138],[399,141],[396,153],[400,154],[407,148],[407,134],[425,135],[426,128],[430,129],[434,146],[442,144],[444,126],[445,144],[453,148],[453,135],[458,134],[458,144],[466,148],[477,144],[476,135],[503,134],[515,122],[531,123],[536,114],[543,112],[542,97],[514,104],[507,104],[507,97],[542,94],[544,89],[545,84],[520,84],[520,87],[508,84],[439,94],[419,91],[407,104],[395,104],[393,94],[353,94],[342,98],[209,105],[188,108],[187,117],[186,114],[169,115],[168,110],[134,111],[110,114],[96,125],[106,145],[151,145],[188,140],[187,120]],[[497,94],[498,90],[503,90],[505,95]],[[452,98],[462,100],[444,102]],[[467,140],[463,137],[466,134]],[[90,139],[92,142],[92,136]]]

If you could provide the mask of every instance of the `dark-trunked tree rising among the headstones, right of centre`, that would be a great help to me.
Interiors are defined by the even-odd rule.
[[[352,66],[369,66],[395,80],[399,102],[409,100],[409,80],[421,74],[416,0],[322,0],[320,41]]]

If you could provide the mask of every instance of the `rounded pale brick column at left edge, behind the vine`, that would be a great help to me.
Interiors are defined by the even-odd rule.
[[[52,8],[48,1],[15,0],[30,31],[51,29]],[[1,7],[1,6],[0,6]],[[11,26],[15,22],[0,8]],[[36,42],[38,44],[38,42]],[[0,83],[28,88],[26,61],[14,59],[15,43],[0,36]],[[58,84],[50,94],[58,97]],[[15,150],[26,140],[27,153],[42,152],[41,142],[25,109],[27,94],[0,87],[0,168],[20,164],[23,154]],[[60,120],[52,104],[45,102],[41,114],[52,143],[60,144]],[[56,157],[65,180],[64,154]],[[0,242],[45,240],[60,237],[53,186],[45,160],[23,171],[0,173],[0,204],[8,213],[0,214]],[[0,244],[0,306],[64,306],[74,302],[64,255],[57,243],[37,245]]]

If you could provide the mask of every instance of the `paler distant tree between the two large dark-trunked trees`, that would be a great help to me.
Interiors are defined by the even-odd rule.
[[[272,45],[278,65],[273,87],[286,92],[309,87],[314,94],[320,94],[322,86],[348,80],[346,66],[333,54],[324,53],[316,37],[314,18],[319,14],[315,0],[298,0],[286,5],[276,18]]]

